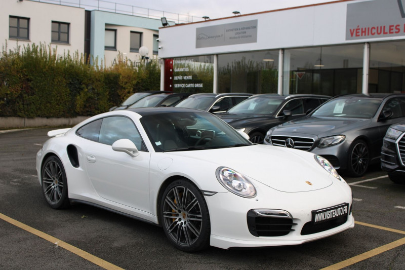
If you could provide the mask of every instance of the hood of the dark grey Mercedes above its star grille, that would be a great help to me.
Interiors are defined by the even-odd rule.
[[[314,118],[304,117],[281,124],[275,128],[274,133],[300,133],[315,135],[319,138],[344,134],[348,130],[355,130],[369,125],[370,119],[342,119],[342,118]]]

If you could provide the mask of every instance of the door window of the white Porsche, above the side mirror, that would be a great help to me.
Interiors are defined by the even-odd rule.
[[[142,147],[142,138],[134,123],[126,117],[106,117],[100,128],[99,142],[112,145],[119,139],[131,140],[138,150]]]

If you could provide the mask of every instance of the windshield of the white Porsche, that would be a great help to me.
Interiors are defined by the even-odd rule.
[[[236,130],[208,112],[145,115],[141,123],[156,152],[252,145]]]

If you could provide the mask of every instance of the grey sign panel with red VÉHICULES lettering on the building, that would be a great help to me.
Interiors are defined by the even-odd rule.
[[[347,4],[346,40],[405,35],[405,0]]]

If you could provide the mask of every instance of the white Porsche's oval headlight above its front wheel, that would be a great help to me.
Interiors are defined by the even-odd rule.
[[[216,175],[221,185],[232,193],[245,198],[253,198],[256,196],[256,188],[240,173],[227,167],[219,167],[216,171]]]

